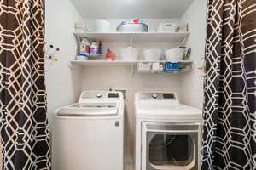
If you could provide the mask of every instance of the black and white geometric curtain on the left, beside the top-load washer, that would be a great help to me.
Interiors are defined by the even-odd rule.
[[[3,170],[48,170],[43,0],[0,1]]]

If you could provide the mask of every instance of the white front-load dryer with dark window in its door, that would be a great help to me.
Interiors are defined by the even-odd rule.
[[[139,92],[135,106],[135,170],[201,169],[201,110],[168,92]]]

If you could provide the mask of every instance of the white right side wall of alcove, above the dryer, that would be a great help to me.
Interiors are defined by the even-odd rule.
[[[203,63],[206,37],[207,0],[195,0],[188,8],[181,22],[189,23],[190,35],[187,45],[192,48],[191,60],[193,71],[184,74],[181,80],[183,104],[202,108],[203,106],[203,71],[198,70]]]

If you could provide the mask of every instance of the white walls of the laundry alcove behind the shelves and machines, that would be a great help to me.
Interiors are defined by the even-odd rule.
[[[207,2],[207,1],[206,1]],[[150,31],[154,31],[161,21],[188,22],[189,39],[187,45],[192,48],[191,58],[194,69],[177,75],[137,74],[131,66],[86,65],[69,67],[70,60],[76,53],[76,42],[73,26],[82,20],[80,14],[69,0],[46,0],[46,41],[53,43],[61,51],[57,56],[60,61],[51,64],[46,61],[46,88],[48,93],[48,113],[51,127],[54,126],[56,108],[76,102],[83,90],[127,90],[125,111],[125,169],[130,170],[133,157],[134,96],[142,90],[164,90],[176,92],[182,103],[201,108],[203,100],[202,72],[197,69],[202,63],[205,39],[206,2],[195,0],[187,12],[179,19],[143,19]],[[122,20],[109,19],[112,31]],[[94,29],[94,20],[83,19],[89,30]],[[103,42],[103,51],[111,48],[119,59],[119,49],[130,45],[127,42]],[[176,48],[177,42],[133,42],[132,46],[140,49],[142,59],[143,48]],[[163,54],[162,54],[163,55]]]

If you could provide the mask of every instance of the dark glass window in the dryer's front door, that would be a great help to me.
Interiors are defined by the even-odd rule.
[[[194,142],[189,135],[148,133],[148,160],[154,167],[188,166],[194,157]]]

